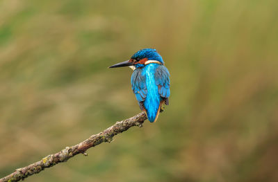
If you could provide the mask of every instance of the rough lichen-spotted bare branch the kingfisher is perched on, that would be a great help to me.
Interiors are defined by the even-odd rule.
[[[147,116],[145,112],[141,112],[129,119],[116,122],[115,125],[109,127],[108,129],[105,129],[99,134],[90,136],[90,138],[77,145],[74,145],[72,147],[65,147],[65,149],[57,152],[56,154],[51,154],[42,158],[36,163],[15,170],[15,172],[13,172],[12,174],[1,178],[0,182],[11,182],[25,179],[28,176],[41,172],[42,170],[44,170],[44,168],[52,167],[58,163],[66,162],[69,158],[72,158],[77,154],[84,154],[85,156],[87,156],[88,154],[86,154],[85,152],[90,147],[95,147],[96,145],[99,145],[103,142],[110,143],[113,140],[113,136],[122,133],[122,131],[126,131],[130,127],[142,127],[142,123],[145,120],[147,120]]]

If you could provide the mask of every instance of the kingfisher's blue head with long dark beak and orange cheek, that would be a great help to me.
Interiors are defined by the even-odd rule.
[[[114,64],[109,68],[118,68],[123,66],[129,66],[131,69],[135,70],[138,68],[142,68],[147,64],[164,64],[161,55],[159,55],[155,49],[153,48],[145,48],[140,51],[137,51],[133,56],[131,56],[130,60],[125,62],[120,62],[118,64]]]

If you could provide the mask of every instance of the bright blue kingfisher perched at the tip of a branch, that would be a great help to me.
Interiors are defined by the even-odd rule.
[[[150,122],[156,122],[162,104],[169,104],[170,73],[164,66],[163,59],[154,48],[137,51],[125,62],[109,68],[129,66],[131,87],[136,95],[139,107],[145,111]]]

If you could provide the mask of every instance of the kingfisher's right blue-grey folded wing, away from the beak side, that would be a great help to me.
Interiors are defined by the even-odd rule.
[[[168,104],[170,96],[170,73],[163,65],[158,66],[156,73],[154,73],[156,85],[158,86],[158,93],[162,98],[165,98],[165,104]]]

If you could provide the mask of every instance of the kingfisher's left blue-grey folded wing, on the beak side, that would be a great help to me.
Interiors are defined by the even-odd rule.
[[[142,69],[136,69],[131,75],[131,87],[138,102],[143,102],[147,97],[146,77],[141,73]]]

